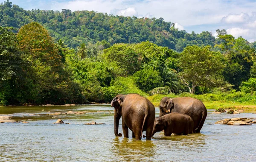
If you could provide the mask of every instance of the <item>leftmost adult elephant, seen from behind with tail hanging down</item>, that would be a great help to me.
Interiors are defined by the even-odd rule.
[[[151,140],[154,126],[155,107],[146,98],[138,94],[116,95],[111,101],[111,107],[115,108],[114,132],[118,133],[119,120],[122,117],[122,130],[124,137],[128,138],[128,128],[132,131],[132,137],[140,140],[142,132],[146,131],[147,140]]]

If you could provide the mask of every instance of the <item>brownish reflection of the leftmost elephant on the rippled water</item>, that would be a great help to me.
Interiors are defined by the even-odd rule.
[[[154,156],[155,145],[151,140],[115,137],[110,151],[113,152],[113,160],[146,161]]]

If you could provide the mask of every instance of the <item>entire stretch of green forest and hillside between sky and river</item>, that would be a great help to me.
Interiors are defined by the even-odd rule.
[[[0,105],[110,102],[119,93],[256,103],[256,42],[224,29],[215,39],[163,18],[26,11],[8,0],[0,13]]]

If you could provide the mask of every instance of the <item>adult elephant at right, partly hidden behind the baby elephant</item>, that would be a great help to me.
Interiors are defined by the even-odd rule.
[[[207,109],[200,100],[191,97],[168,98],[163,97],[159,105],[159,116],[171,112],[189,115],[194,121],[194,131],[199,133],[207,117]]]

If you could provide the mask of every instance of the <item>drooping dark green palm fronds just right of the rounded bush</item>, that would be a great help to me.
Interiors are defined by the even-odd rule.
[[[174,71],[167,66],[160,69],[161,77],[163,78],[163,87],[169,87],[171,92],[177,93],[179,91],[180,83]]]

